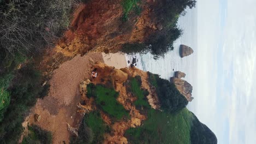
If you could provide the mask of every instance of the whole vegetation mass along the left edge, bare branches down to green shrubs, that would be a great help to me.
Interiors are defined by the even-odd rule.
[[[1,143],[17,143],[28,110],[48,93],[49,85],[41,86],[42,77],[29,57],[38,57],[40,50],[54,45],[68,28],[72,3],[0,1]]]

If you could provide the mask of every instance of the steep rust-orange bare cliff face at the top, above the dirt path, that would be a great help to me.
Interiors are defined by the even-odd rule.
[[[71,28],[56,46],[66,56],[84,54],[89,50],[118,52],[125,43],[142,43],[162,27],[152,17],[154,1],[142,1],[140,15],[123,21],[122,1],[94,0],[80,6]]]

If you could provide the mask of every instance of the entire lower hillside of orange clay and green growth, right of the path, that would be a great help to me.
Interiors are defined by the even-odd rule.
[[[98,62],[91,69],[98,76],[81,82],[84,103],[79,103],[79,112],[85,117],[79,136],[71,142],[217,143],[212,131],[185,108],[188,101],[182,102],[185,97],[172,83],[137,68],[119,70]],[[159,83],[164,83],[161,89]],[[160,91],[170,94],[165,97]],[[103,121],[97,130],[92,115],[98,115],[95,121]]]

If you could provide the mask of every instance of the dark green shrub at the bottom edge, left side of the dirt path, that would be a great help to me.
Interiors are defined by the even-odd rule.
[[[43,130],[37,125],[28,126],[28,135],[24,137],[22,144],[50,144],[53,140],[53,134],[50,131]]]

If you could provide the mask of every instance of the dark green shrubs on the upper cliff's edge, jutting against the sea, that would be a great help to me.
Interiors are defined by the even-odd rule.
[[[124,1],[126,2],[126,1]],[[123,3],[124,3],[123,2]],[[130,2],[130,3],[128,3]],[[131,8],[136,8],[136,2],[127,1],[124,14]],[[133,4],[133,7],[130,6]],[[125,53],[150,52],[157,59],[170,50],[173,50],[173,42],[182,34],[182,29],[177,26],[180,15],[185,15],[186,8],[194,8],[195,0],[160,0],[156,1],[154,11],[150,13],[151,21],[158,23],[158,31],[152,32],[143,43],[127,43],[121,51]],[[124,5],[124,4],[123,4]],[[130,8],[130,9],[129,9]]]

